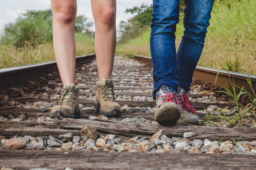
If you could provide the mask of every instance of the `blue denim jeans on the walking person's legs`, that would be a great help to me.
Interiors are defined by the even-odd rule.
[[[154,99],[161,86],[167,86],[171,92],[177,91],[178,87],[189,91],[204,47],[213,0],[185,0],[185,30],[176,54],[175,31],[179,22],[179,3],[179,0],[153,0],[150,50]]]

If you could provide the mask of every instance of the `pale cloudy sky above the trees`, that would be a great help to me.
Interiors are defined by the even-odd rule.
[[[140,6],[142,3],[151,4],[152,0],[117,0],[117,26],[121,21],[132,17],[132,15],[124,13],[126,8]],[[0,0],[0,4],[0,33],[5,24],[15,22],[19,15],[28,10],[51,8],[50,0]],[[77,15],[85,15],[93,20],[90,0],[77,0]]]

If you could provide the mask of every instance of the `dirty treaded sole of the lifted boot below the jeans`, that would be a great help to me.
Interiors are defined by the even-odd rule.
[[[164,103],[154,116],[154,120],[161,125],[176,125],[178,119],[180,119],[179,106],[173,102]]]

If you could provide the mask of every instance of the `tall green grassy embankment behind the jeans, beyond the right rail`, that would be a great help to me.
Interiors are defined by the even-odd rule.
[[[253,0],[225,0],[214,3],[210,26],[199,66],[221,69],[234,63],[238,71],[256,75],[256,3]],[[183,35],[182,18],[177,24],[176,48]],[[117,46],[118,54],[150,56],[150,26],[140,36]],[[226,64],[225,64],[226,63]]]

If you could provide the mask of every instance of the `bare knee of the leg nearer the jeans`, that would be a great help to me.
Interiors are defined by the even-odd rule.
[[[100,22],[101,24],[106,24],[107,26],[112,26],[116,22],[116,11],[115,8],[106,8],[99,12],[95,22]]]

